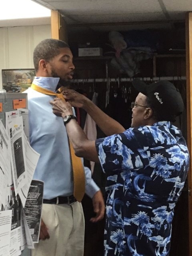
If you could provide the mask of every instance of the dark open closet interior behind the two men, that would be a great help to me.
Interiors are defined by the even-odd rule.
[[[137,96],[132,87],[136,77],[146,83],[169,80],[181,92],[185,110],[176,120],[187,140],[185,24],[73,24],[68,25],[68,44],[74,55],[75,73],[71,87],[92,99],[124,128],[131,123],[131,102]],[[79,56],[80,48],[100,48],[100,56]],[[91,51],[91,50],[90,50]],[[88,51],[89,52],[89,51]],[[92,52],[91,52],[92,54]],[[84,128],[86,113],[80,110]],[[97,137],[104,136],[97,128]],[[105,175],[95,165],[94,180],[104,192]],[[85,256],[102,255],[104,223],[90,224],[90,204],[86,212]],[[188,255],[187,181],[175,209],[170,256]]]

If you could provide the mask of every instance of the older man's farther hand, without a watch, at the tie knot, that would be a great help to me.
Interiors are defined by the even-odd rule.
[[[61,89],[61,93],[63,94],[64,99],[70,102],[73,107],[83,108],[85,101],[89,100],[86,96],[75,90]]]

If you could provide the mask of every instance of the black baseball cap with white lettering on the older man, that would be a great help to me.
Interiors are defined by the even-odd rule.
[[[171,82],[159,80],[152,84],[145,84],[136,78],[132,84],[138,92],[148,97],[152,108],[162,120],[174,121],[175,117],[182,113],[184,109],[182,96]]]

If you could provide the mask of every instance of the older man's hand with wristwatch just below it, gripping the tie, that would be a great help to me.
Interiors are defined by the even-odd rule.
[[[56,116],[64,117],[73,114],[72,106],[70,103],[60,98],[54,98],[54,100],[50,101],[50,104],[53,106],[53,113]]]

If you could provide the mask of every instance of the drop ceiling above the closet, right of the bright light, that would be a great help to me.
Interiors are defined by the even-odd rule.
[[[183,19],[192,0],[34,0],[59,10],[68,24]],[[95,15],[97,14],[97,15]],[[166,15],[167,14],[167,15]]]

